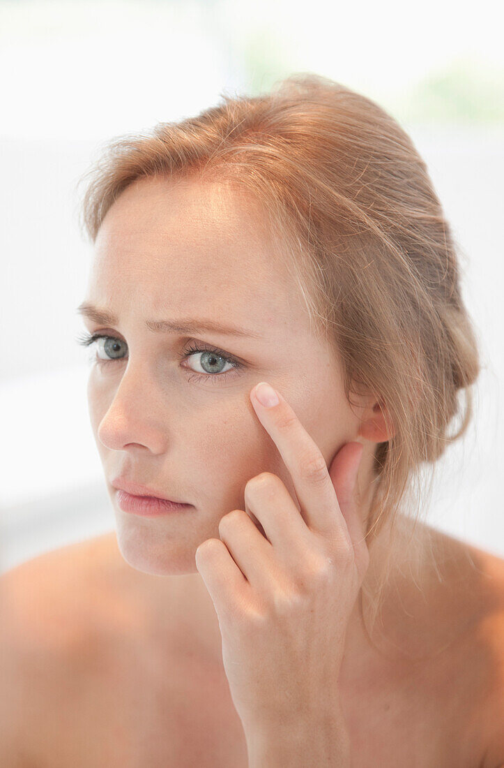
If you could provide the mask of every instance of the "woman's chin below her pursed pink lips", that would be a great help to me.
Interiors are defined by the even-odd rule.
[[[183,576],[198,572],[196,568],[196,545],[181,538],[174,540],[163,536],[156,526],[132,525],[117,521],[117,546],[120,554],[131,568],[153,576]]]

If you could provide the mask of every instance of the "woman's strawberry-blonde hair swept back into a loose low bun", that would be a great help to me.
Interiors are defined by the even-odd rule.
[[[221,99],[111,141],[81,179],[81,224],[94,242],[114,200],[143,177],[227,180],[264,204],[348,399],[376,393],[393,425],[375,452],[370,545],[472,415],[479,354],[453,234],[410,137],[369,98],[301,73],[267,94]]]

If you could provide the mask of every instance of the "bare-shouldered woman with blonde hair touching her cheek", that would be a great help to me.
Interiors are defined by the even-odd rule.
[[[298,75],[84,180],[117,531],[3,579],[2,765],[504,764],[502,560],[420,520],[479,356],[410,138]]]

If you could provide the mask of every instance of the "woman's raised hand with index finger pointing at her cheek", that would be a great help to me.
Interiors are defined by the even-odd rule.
[[[363,446],[345,444],[328,470],[288,402],[279,396],[265,408],[255,389],[252,405],[292,476],[301,511],[280,478],[262,472],[245,485],[245,511],[224,515],[220,538],[196,550],[245,735],[331,712],[348,621],[369,565],[354,502]]]

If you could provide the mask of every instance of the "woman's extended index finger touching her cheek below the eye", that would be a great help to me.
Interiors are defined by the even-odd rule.
[[[340,529],[350,540],[324,455],[292,406],[279,392],[274,390],[278,395],[278,405],[262,405],[256,390],[264,385],[265,382],[259,382],[252,389],[252,406],[288,468],[306,525],[313,531],[330,532],[332,535]]]

